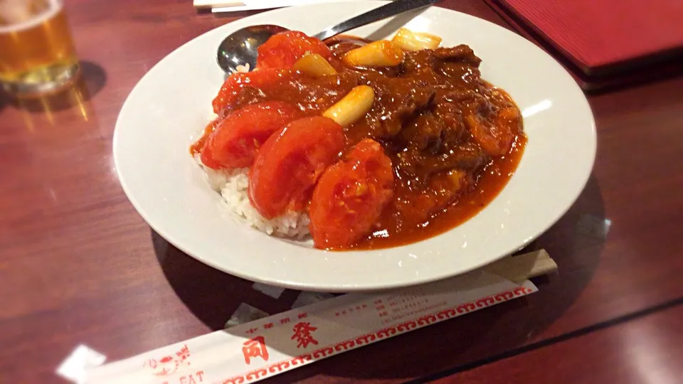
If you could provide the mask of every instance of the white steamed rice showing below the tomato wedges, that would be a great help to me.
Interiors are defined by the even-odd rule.
[[[247,194],[249,185],[248,168],[233,171],[217,171],[201,163],[199,156],[195,160],[206,174],[206,180],[214,191],[221,193],[225,205],[245,223],[267,233],[282,238],[302,240],[310,235],[309,218],[306,213],[287,212],[284,215],[268,220],[254,208]]]

